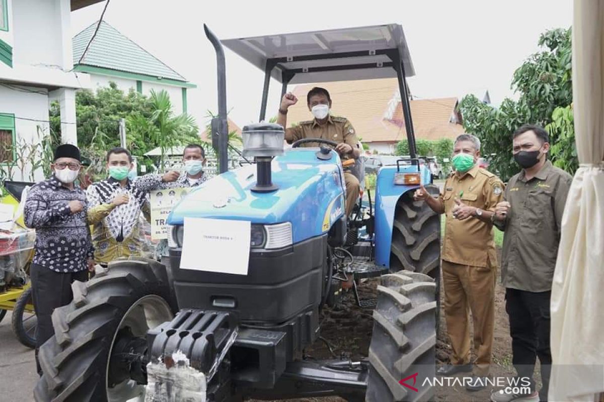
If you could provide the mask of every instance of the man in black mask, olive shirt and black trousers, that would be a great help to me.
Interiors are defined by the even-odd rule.
[[[496,206],[495,225],[504,230],[501,283],[506,287],[512,363],[518,377],[530,382],[530,393],[496,391],[495,402],[547,401],[551,373],[550,297],[562,213],[573,177],[547,160],[547,131],[523,125],[514,133],[513,156],[522,168],[510,178]],[[533,380],[536,359],[543,386]]]

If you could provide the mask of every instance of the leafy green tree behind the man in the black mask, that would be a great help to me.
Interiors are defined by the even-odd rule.
[[[576,166],[572,153],[556,146],[559,140],[574,142],[574,132],[568,125],[548,126],[556,108],[571,104],[571,30],[561,28],[545,31],[539,37],[539,46],[545,49],[531,55],[514,72],[512,88],[519,93],[518,101],[506,98],[500,107],[483,104],[474,95],[460,102],[463,125],[467,133],[475,134],[482,142],[483,154],[494,154],[490,169],[508,180],[520,168],[512,157],[512,133],[522,124],[539,124],[550,128],[551,159],[558,165],[572,169]],[[565,130],[565,131],[561,131]],[[567,160],[565,158],[570,158]],[[570,170],[572,173],[573,171]]]

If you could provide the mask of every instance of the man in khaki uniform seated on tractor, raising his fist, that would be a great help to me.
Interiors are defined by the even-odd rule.
[[[295,105],[298,98],[291,92],[283,95],[281,106],[277,116],[277,124],[286,127],[288,119],[288,108]],[[314,116],[309,121],[299,122],[298,125],[285,130],[285,140],[288,143],[303,138],[321,138],[337,142],[335,150],[342,160],[358,159],[361,150],[358,148],[358,139],[352,124],[345,118],[331,116],[329,109],[332,107],[332,99],[326,89],[314,87],[306,95],[308,110]],[[304,144],[304,146],[317,146],[315,143]],[[346,216],[352,212],[355,203],[359,199],[361,188],[358,178],[350,172],[344,172],[346,184]]]

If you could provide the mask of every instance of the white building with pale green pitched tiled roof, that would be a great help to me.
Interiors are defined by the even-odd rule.
[[[174,113],[187,113],[187,89],[196,86],[107,22],[101,22],[82,58],[97,25],[95,22],[73,39],[75,70],[90,74],[93,89],[108,87],[110,81],[125,92],[133,89],[143,95],[164,89]]]

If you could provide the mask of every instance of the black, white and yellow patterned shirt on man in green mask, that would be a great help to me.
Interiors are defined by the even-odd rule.
[[[94,218],[91,219],[94,260],[108,264],[120,257],[141,256],[143,250],[143,228],[141,210],[144,209],[149,190],[159,188],[161,176],[147,175],[134,183],[127,182],[121,187],[114,178],[92,183],[86,196]],[[118,207],[111,201],[120,193],[129,195],[129,202]]]

